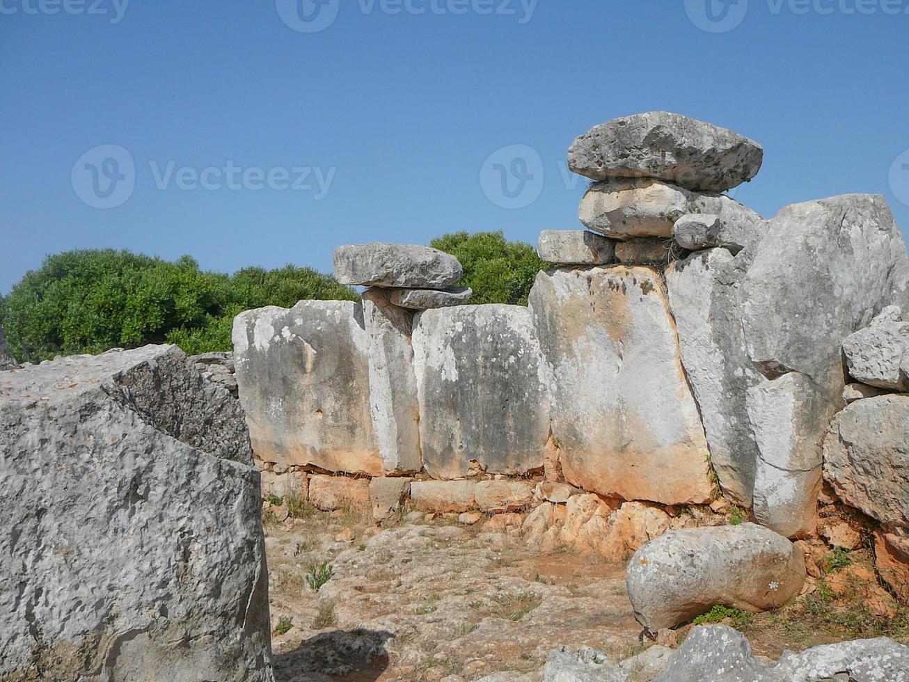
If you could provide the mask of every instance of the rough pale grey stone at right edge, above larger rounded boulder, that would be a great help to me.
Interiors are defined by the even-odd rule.
[[[843,354],[856,381],[894,391],[909,389],[903,369],[909,363],[909,323],[875,318],[871,326],[846,336]]]

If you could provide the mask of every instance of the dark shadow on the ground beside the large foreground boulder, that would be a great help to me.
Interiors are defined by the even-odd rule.
[[[375,630],[335,630],[310,637],[275,654],[276,682],[375,682],[388,667],[385,642],[395,637]]]

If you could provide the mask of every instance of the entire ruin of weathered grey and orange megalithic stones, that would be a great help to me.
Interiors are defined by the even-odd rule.
[[[762,158],[679,115],[596,126],[569,152],[594,180],[586,230],[540,236],[552,267],[526,307],[468,305],[453,256],[372,244],[335,254],[362,303],[246,312],[233,356],[146,346],[17,368],[0,330],[0,677],[273,680],[273,495],[377,519],[479,510],[541,551],[630,557],[650,633],[796,597],[801,538],[818,535],[870,537],[877,577],[909,601],[904,241],[881,196],[766,220],[722,194]],[[712,516],[731,505],[755,523]],[[765,665],[704,627],[658,669],[893,680],[909,649]],[[554,651],[544,678],[627,679],[592,650]]]

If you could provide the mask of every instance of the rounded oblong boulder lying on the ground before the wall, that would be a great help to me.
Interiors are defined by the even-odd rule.
[[[674,627],[725,604],[759,612],[797,597],[804,553],[755,524],[672,530],[628,562],[634,617],[651,630]]]

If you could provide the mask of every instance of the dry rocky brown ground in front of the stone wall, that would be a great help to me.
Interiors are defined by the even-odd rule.
[[[601,649],[614,661],[654,646],[642,642],[624,564],[560,548],[541,554],[520,529],[491,528],[485,517],[465,526],[457,515],[427,522],[402,512],[376,526],[355,514],[305,508],[283,522],[266,512],[265,528],[280,682],[457,682],[502,671],[535,679],[559,645]],[[787,648],[907,634],[892,608],[875,618],[853,602],[836,607],[828,584],[845,592],[847,583],[861,590],[866,582],[862,552],[839,556],[845,560],[853,563],[836,567],[820,596],[811,587],[793,607],[758,617],[732,611],[707,622],[744,629],[754,652],[774,660]],[[333,575],[316,591],[307,575],[314,580],[325,562]],[[674,646],[685,634],[667,632],[660,641]],[[632,678],[649,679],[643,671]]]

